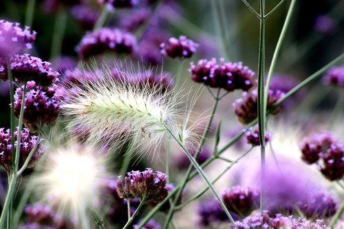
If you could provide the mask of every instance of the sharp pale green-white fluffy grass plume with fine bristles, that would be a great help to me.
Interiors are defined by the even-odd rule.
[[[127,69],[103,66],[88,69],[82,84],[69,80],[67,99],[61,106],[63,115],[69,117],[67,131],[77,130],[87,143],[110,147],[129,139],[133,146],[157,147],[167,129],[184,144],[193,139],[186,128],[187,116],[181,118],[177,113],[179,98],[173,91],[162,84],[152,85]]]

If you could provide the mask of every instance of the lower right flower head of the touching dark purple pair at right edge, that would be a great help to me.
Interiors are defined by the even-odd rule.
[[[320,171],[330,181],[339,180],[344,175],[344,146],[341,143],[331,144],[321,157]]]

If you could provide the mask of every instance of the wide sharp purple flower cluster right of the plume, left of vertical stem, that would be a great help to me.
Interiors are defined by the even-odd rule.
[[[219,65],[216,59],[211,61],[206,59],[200,60],[195,66],[191,63],[191,79],[197,83],[204,83],[210,87],[223,88],[227,91],[234,91],[235,89],[242,89],[248,91],[255,85],[252,72],[247,66],[242,65],[241,62],[224,63],[224,59],[220,59]]]

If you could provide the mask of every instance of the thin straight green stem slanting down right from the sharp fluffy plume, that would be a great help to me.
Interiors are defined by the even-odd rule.
[[[224,205],[224,202],[222,201],[221,197],[219,196],[219,194],[217,193],[217,191],[215,190],[214,186],[211,184],[211,182],[209,181],[208,177],[206,176],[206,174],[204,173],[202,167],[200,166],[200,164],[197,163],[197,161],[195,160],[195,158],[193,158],[193,156],[191,155],[191,153],[189,153],[189,151],[185,148],[185,146],[182,144],[182,142],[180,142],[178,140],[178,138],[175,137],[175,135],[173,135],[173,133],[171,132],[171,130],[168,127],[165,127],[166,130],[170,133],[171,137],[175,140],[175,142],[177,142],[180,145],[180,148],[182,148],[182,150],[184,151],[184,153],[186,154],[187,157],[189,157],[189,160],[191,162],[191,164],[193,164],[193,166],[196,168],[196,170],[198,171],[198,173],[202,176],[202,178],[204,179],[204,181],[206,182],[206,184],[208,184],[208,187],[211,189],[211,191],[213,192],[213,194],[215,195],[217,201],[219,201],[219,204],[222,206],[222,209],[224,210],[224,212],[226,212],[227,217],[230,219],[230,222],[233,224],[233,226],[235,226],[235,228],[237,228],[237,226],[235,225],[235,221],[233,219],[233,217],[230,215],[230,212],[228,211],[228,209],[226,208],[226,206]],[[182,190],[182,188],[180,189]],[[169,222],[167,222],[168,225]]]

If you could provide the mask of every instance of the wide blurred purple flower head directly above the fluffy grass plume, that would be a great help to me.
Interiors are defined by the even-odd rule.
[[[133,34],[118,29],[101,28],[88,32],[76,46],[76,52],[81,59],[103,54],[106,51],[117,54],[132,54],[137,49]]]

